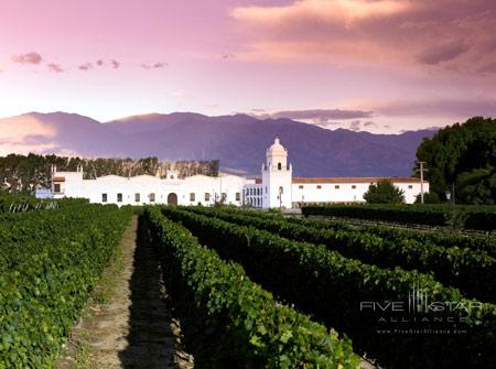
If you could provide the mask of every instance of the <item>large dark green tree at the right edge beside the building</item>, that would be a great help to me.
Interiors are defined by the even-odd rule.
[[[427,162],[430,189],[440,198],[455,183],[457,202],[495,204],[496,120],[475,117],[446,127],[423,140],[417,160]]]

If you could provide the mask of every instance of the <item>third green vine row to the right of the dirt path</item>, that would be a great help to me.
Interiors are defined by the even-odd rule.
[[[289,239],[325,245],[347,258],[382,268],[401,267],[433,273],[445,285],[461,289],[468,297],[496,301],[496,259],[457,247],[445,248],[408,238],[382,238],[353,229],[330,229],[284,218],[249,216],[237,210],[187,208],[244,226],[254,226]]]

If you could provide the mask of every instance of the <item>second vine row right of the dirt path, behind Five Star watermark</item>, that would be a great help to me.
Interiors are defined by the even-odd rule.
[[[464,299],[430,275],[400,268],[381,269],[344,258],[324,246],[291,241],[268,231],[233,225],[220,219],[163,208],[202,243],[228,260],[241,263],[254,281],[262,284],[319,321],[332,324],[354,341],[355,350],[368,354],[387,368],[490,368],[496,365],[496,306]],[[434,302],[457,302],[472,308],[424,312],[423,328],[465,328],[465,335],[378,335],[378,313],[360,311],[363,302],[405,301],[413,285],[422,286]],[[392,318],[399,318],[389,312]],[[446,322],[449,316],[466,323]],[[380,315],[379,315],[380,316]],[[434,318],[443,323],[433,322]],[[401,322],[405,328],[416,323]]]

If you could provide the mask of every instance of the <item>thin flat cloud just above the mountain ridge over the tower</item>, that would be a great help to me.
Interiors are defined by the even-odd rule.
[[[309,110],[284,110],[273,113],[261,113],[259,118],[288,118],[295,120],[313,120],[319,123],[326,123],[330,120],[346,120],[356,118],[370,118],[371,111],[364,110],[342,110],[342,109],[309,109]]]

